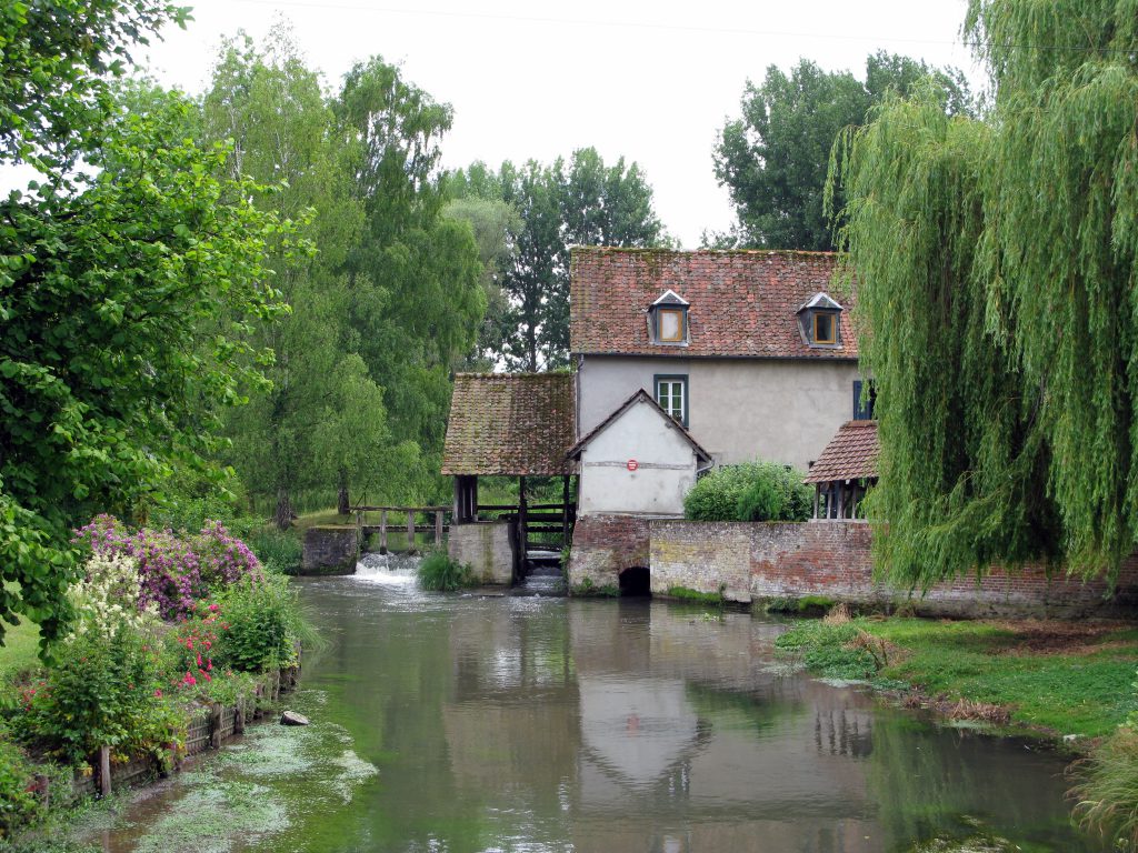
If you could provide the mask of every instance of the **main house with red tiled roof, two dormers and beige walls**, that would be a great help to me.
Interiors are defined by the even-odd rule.
[[[869,417],[855,295],[834,291],[835,265],[828,252],[574,248],[577,436],[619,433],[607,461],[638,459],[643,441],[613,415],[643,391],[715,464],[761,457],[805,472],[839,426]],[[675,449],[677,479],[691,449]],[[594,499],[621,488],[586,454],[580,474],[583,512],[642,512],[638,498],[624,510]],[[660,514],[679,513],[671,503]]]

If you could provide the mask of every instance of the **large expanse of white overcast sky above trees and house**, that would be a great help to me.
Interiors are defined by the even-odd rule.
[[[965,0],[792,0],[734,3],[578,0],[200,0],[185,32],[149,51],[160,81],[200,92],[223,35],[262,39],[283,16],[329,85],[380,55],[454,107],[444,165],[549,162],[594,146],[645,169],[668,231],[685,248],[733,222],[711,148],[739,113],[748,78],[809,57],[864,76],[880,48],[956,65]]]

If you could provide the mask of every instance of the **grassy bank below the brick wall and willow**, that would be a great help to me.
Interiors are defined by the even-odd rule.
[[[1108,735],[1135,710],[1138,629],[1118,622],[827,618],[777,641],[817,674],[1031,734]]]

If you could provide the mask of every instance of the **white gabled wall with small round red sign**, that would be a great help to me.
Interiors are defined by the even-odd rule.
[[[635,459],[637,469],[628,470]],[[679,428],[637,401],[586,445],[580,457],[578,513],[673,515],[695,482],[696,458]]]

